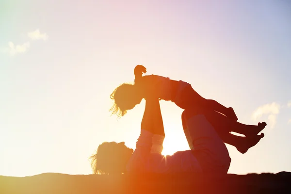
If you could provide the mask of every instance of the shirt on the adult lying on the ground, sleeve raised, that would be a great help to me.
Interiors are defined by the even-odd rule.
[[[202,172],[192,150],[178,151],[173,155],[163,156],[161,154],[163,139],[164,136],[142,129],[136,149],[127,164],[127,171],[142,173]]]

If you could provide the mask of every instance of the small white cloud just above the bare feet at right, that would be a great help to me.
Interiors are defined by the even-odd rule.
[[[275,127],[277,114],[280,112],[280,105],[276,102],[265,104],[257,108],[253,114],[252,119],[254,121],[259,121],[262,115],[268,115],[267,124],[271,129]]]

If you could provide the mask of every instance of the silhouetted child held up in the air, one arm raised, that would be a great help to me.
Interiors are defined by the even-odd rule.
[[[204,114],[214,128],[225,127],[233,131],[233,128],[244,127],[242,126],[244,124],[236,122],[238,118],[231,107],[226,108],[215,100],[201,97],[191,84],[158,75],[143,76],[143,73],[146,73],[146,68],[143,65],[137,65],[134,68],[135,83],[123,83],[115,88],[110,96],[114,100],[111,108],[113,114],[119,117],[124,116],[143,98],[157,97],[172,101],[181,109],[191,109],[196,114]],[[220,113],[225,116],[221,117]],[[265,123],[259,123],[249,134],[257,135],[265,126]]]

